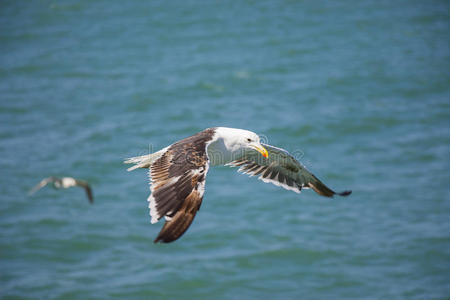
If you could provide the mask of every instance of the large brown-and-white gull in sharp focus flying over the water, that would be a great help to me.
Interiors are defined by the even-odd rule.
[[[336,193],[310,173],[286,150],[262,144],[251,131],[226,127],[205,129],[153,154],[132,157],[128,171],[149,168],[148,197],[151,223],[166,219],[154,242],[177,240],[191,225],[203,199],[209,166],[240,167],[239,172],[259,176],[287,190],[313,189],[326,197]]]

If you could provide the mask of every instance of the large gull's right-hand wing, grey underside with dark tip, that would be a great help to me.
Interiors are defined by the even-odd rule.
[[[243,172],[250,176],[259,176],[258,179],[264,182],[270,182],[296,193],[300,193],[302,189],[309,188],[326,197],[333,197],[335,194],[347,196],[351,193],[351,191],[334,192],[286,150],[271,145],[262,145],[269,153],[268,158],[264,158],[255,150],[248,149],[242,157],[227,165],[240,167],[238,172]]]

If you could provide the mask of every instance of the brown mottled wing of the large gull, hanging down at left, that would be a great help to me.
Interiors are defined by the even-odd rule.
[[[173,144],[150,167],[151,222],[166,218],[155,243],[182,236],[200,208],[209,167],[206,146],[211,138],[203,133]]]

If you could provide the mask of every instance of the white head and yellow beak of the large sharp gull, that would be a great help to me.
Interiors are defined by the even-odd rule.
[[[217,127],[216,134],[218,138],[223,139],[226,149],[230,152],[239,152],[246,148],[254,149],[267,158],[269,153],[261,145],[259,136],[249,130]]]

